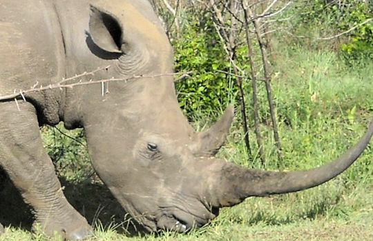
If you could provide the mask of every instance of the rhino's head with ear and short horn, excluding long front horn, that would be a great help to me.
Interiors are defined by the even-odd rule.
[[[94,104],[96,111],[87,106],[82,125],[93,166],[150,231],[201,227],[217,215],[209,179],[219,167],[209,158],[224,143],[233,106],[219,123],[196,134],[178,105],[173,50],[151,6],[131,3],[122,11],[91,6],[93,47],[118,54],[112,76],[156,77],[109,83],[110,93]]]

